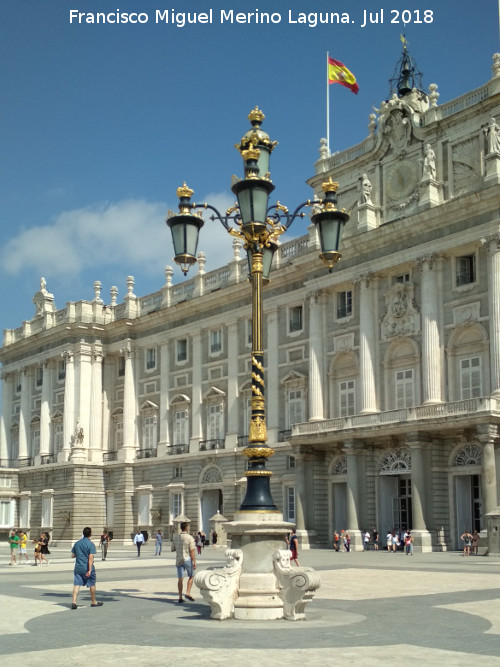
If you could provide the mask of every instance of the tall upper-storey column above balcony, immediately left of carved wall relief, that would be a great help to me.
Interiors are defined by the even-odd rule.
[[[360,413],[378,412],[375,382],[377,331],[377,278],[361,276],[359,284]]]

